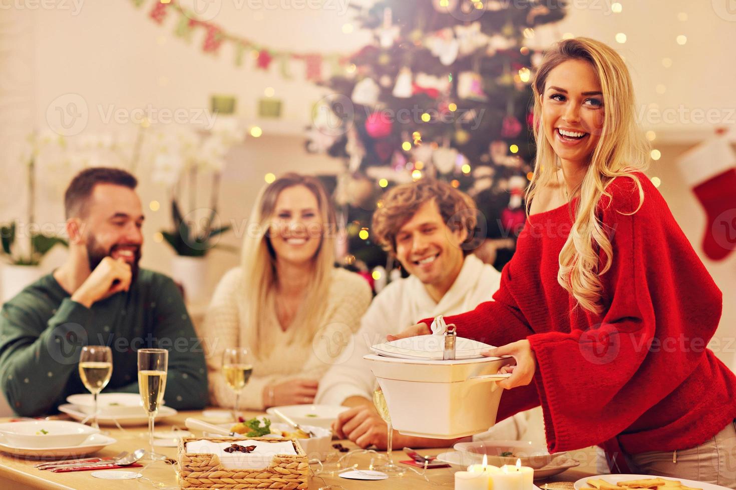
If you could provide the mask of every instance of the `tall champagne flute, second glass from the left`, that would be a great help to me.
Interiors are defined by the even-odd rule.
[[[138,390],[141,392],[143,408],[148,412],[148,442],[151,446],[146,457],[152,460],[165,459],[153,450],[153,420],[166,391],[166,372],[169,369],[169,351],[166,349],[138,350]]]

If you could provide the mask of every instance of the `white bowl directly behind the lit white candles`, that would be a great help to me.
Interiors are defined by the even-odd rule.
[[[472,464],[481,463],[483,455],[486,455],[488,464],[493,466],[513,465],[517,460],[521,460],[521,466],[529,466],[534,469],[547,466],[550,461],[562,454],[550,454],[545,445],[531,441],[458,442],[453,448],[466,458],[473,460]],[[512,455],[502,456],[503,453],[512,453]]]

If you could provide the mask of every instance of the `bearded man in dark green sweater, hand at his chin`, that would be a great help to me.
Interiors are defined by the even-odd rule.
[[[169,350],[164,400],[177,409],[207,404],[207,370],[174,281],[140,269],[144,216],[135,177],[96,167],[79,173],[64,198],[69,254],[52,274],[4,304],[0,388],[24,416],[57,411],[79,379],[83,345],[113,351],[105,392],[138,392],[137,350]]]

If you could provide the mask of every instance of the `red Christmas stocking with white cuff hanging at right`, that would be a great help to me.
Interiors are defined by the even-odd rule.
[[[725,137],[716,137],[679,159],[685,180],[707,213],[703,251],[721,260],[736,250],[736,154]]]

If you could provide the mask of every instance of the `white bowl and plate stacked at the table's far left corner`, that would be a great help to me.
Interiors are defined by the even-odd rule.
[[[96,453],[115,444],[112,437],[68,420],[29,420],[0,424],[0,451],[26,458],[66,458]]]

